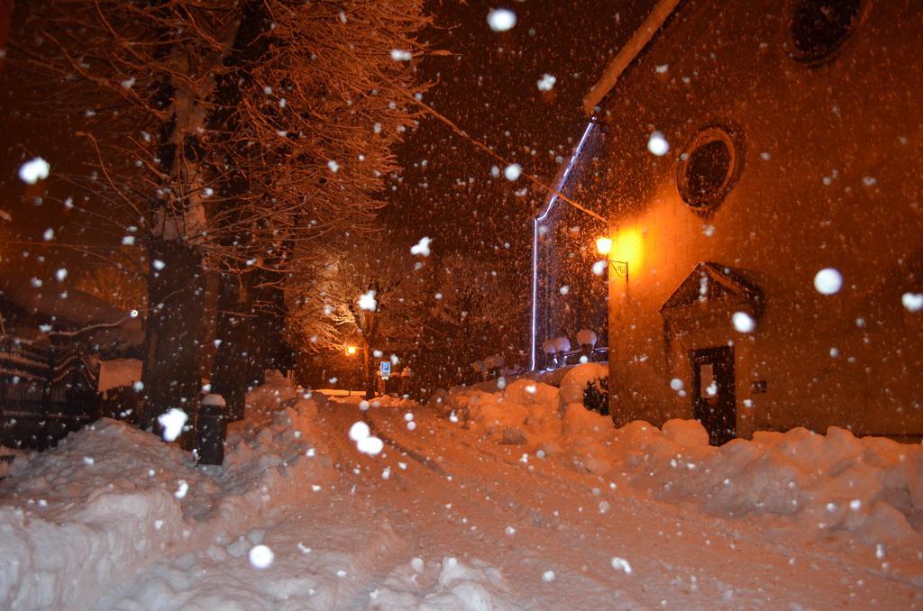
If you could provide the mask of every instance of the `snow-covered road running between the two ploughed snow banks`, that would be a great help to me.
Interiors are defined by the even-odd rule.
[[[386,441],[378,456],[348,437],[363,418]],[[409,401],[366,412],[331,401],[316,424],[332,481],[236,543],[146,567],[97,607],[923,605],[912,568],[882,566],[874,547],[798,540],[784,516],[717,518],[661,502],[626,477],[523,456]],[[267,569],[247,557],[260,543],[274,553]]]

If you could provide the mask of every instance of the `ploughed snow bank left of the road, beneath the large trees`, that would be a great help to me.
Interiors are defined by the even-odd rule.
[[[307,402],[232,425],[222,467],[109,419],[14,461],[0,484],[0,607],[87,608],[176,548],[230,541],[330,480]]]

